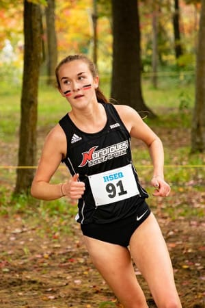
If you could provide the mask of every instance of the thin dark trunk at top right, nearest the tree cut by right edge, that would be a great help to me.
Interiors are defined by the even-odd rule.
[[[181,45],[181,38],[180,38],[180,8],[179,8],[179,1],[174,0],[174,16],[173,16],[173,27],[174,27],[174,49],[176,59],[182,55],[182,45]]]

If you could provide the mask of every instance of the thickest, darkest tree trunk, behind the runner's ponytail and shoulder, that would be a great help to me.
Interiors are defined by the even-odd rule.
[[[153,112],[141,93],[139,14],[136,0],[112,0],[113,73],[111,97],[137,111]]]

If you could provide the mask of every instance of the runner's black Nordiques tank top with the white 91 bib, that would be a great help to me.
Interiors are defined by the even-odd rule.
[[[62,162],[72,176],[79,173],[79,181],[85,183],[76,218],[81,224],[102,224],[126,218],[136,211],[144,198],[148,198],[133,166],[131,136],[115,107],[111,103],[102,105],[107,123],[97,133],[81,131],[68,114],[59,120],[67,139],[67,154]],[[131,188],[131,183],[137,188]]]

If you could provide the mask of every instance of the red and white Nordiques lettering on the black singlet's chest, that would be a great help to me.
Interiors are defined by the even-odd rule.
[[[86,164],[88,166],[94,166],[102,162],[106,162],[114,157],[119,157],[126,155],[126,150],[128,149],[128,140],[112,144],[104,149],[96,151],[98,146],[92,146],[87,152],[83,152],[83,159],[79,167],[84,167]]]

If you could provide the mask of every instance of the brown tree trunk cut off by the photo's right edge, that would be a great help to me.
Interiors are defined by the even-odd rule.
[[[202,0],[197,46],[195,107],[191,129],[191,152],[205,151],[205,0]]]

